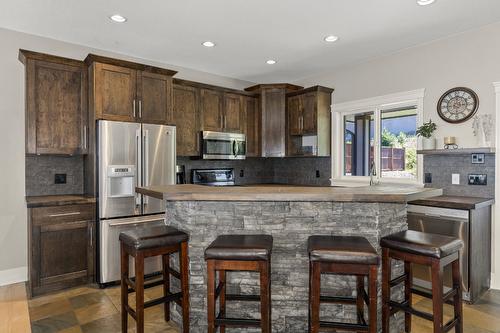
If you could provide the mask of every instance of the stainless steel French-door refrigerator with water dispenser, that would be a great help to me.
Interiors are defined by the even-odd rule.
[[[176,131],[108,120],[100,120],[97,131],[99,282],[108,283],[120,279],[119,234],[164,223],[163,201],[138,194],[135,187],[175,184]],[[159,259],[149,259],[145,272],[159,271]]]

